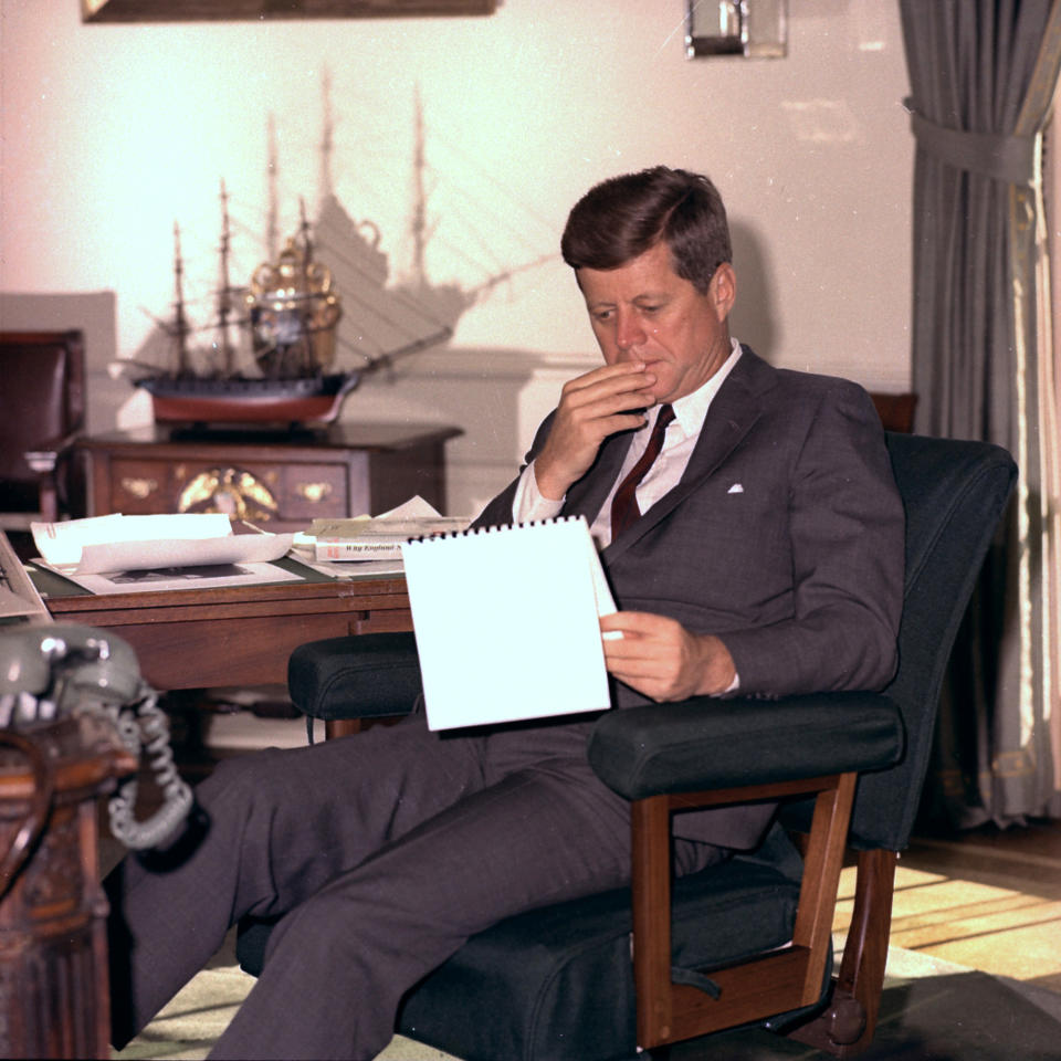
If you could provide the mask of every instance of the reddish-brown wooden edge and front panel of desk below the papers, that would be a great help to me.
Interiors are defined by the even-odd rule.
[[[401,577],[307,576],[271,586],[107,596],[84,593],[46,571],[33,580],[57,622],[102,627],[128,641],[144,677],[160,691],[285,685],[287,658],[306,641],[412,629]]]

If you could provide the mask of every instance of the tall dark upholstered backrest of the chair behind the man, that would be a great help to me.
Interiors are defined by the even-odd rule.
[[[1017,466],[987,442],[889,433],[906,510],[906,576],[899,670],[885,693],[899,704],[906,754],[859,780],[855,848],[906,845],[924,784],[950,649],[1006,507]]]

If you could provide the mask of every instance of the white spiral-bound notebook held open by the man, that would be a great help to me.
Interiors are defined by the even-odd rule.
[[[584,517],[401,551],[431,729],[610,706],[598,617],[616,606]]]

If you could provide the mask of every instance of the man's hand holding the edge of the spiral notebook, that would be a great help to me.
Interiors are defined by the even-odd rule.
[[[729,650],[710,633],[690,633],[680,622],[645,611],[618,611],[600,620],[610,674],[655,701],[724,693],[736,676]]]

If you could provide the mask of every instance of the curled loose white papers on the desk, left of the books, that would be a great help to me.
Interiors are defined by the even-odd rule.
[[[291,534],[233,534],[222,513],[92,516],[33,523],[41,558],[63,574],[95,575],[211,564],[259,564],[282,557]]]

